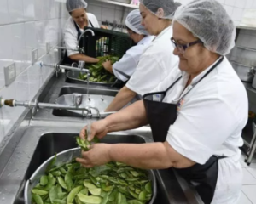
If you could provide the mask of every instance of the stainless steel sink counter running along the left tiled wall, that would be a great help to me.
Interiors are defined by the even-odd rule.
[[[60,95],[61,88],[65,86],[86,88],[86,85],[83,84],[66,82],[64,74],[58,78],[53,76],[38,95],[39,102],[55,102],[55,99]],[[100,86],[90,86],[90,88],[118,91],[118,88],[102,88]],[[31,117],[31,111],[27,109],[24,120],[20,122],[19,127],[14,129],[14,133],[10,135],[9,143],[0,151],[0,203],[24,203],[23,190],[26,180],[31,177],[38,167],[37,165],[41,164],[33,165],[36,156],[39,154],[41,157],[38,158],[44,161],[42,156],[49,158],[55,154],[49,155],[54,148],[52,145],[38,149],[38,145],[44,147],[44,142],[42,143],[44,137],[52,139],[54,144],[54,136],[73,137],[79,134],[81,127],[95,120],[83,117],[54,116],[53,111],[48,109],[39,110],[35,116]],[[151,130],[147,126],[113,134],[138,135],[145,142],[152,142]],[[70,148],[69,143],[61,145],[63,148]],[[58,146],[55,144],[55,148]],[[57,151],[59,152],[61,149],[57,148]],[[196,191],[178,177],[173,170],[157,170],[155,174],[158,180],[158,196],[154,203],[203,203]]]

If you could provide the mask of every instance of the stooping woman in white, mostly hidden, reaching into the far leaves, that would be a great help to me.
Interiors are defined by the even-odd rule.
[[[111,65],[110,61],[106,61],[102,64],[107,71],[114,74],[115,77],[123,82],[130,79],[131,75],[135,71],[140,56],[154,39],[153,36],[149,35],[144,26],[141,25],[141,21],[142,16],[139,9],[135,9],[127,15],[125,25],[129,36],[133,42],[137,43],[137,45],[127,50],[122,59],[113,65]]]

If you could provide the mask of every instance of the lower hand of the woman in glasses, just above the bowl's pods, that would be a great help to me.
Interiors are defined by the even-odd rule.
[[[76,161],[87,168],[101,166],[111,161],[110,148],[111,144],[93,144],[89,151],[82,152],[83,158],[77,158]]]

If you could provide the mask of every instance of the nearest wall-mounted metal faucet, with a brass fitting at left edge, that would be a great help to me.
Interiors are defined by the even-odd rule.
[[[57,105],[57,104],[48,104],[48,103],[38,103],[38,100],[35,101],[18,101],[15,99],[3,99],[0,98],[0,108],[3,106],[9,106],[9,107],[26,107],[26,108],[32,108],[33,113],[36,112],[37,109],[60,109],[60,110],[75,110],[75,111],[82,111],[82,115],[87,118],[92,118],[91,110],[96,110],[97,114],[96,116],[101,118],[100,111],[96,107],[81,107],[83,96],[82,94],[73,94],[73,101],[74,105]],[[86,114],[85,114],[86,111]]]

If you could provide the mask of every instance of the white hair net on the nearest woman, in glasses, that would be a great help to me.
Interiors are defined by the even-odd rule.
[[[229,54],[235,46],[236,27],[216,0],[195,0],[178,8],[174,18],[214,53]]]

